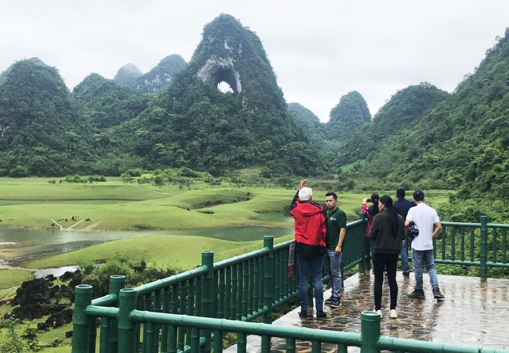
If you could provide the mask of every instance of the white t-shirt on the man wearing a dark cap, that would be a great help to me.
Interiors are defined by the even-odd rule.
[[[408,210],[407,221],[415,223],[415,226],[419,229],[419,235],[412,240],[412,249],[432,250],[433,225],[440,222],[437,211],[422,202]]]

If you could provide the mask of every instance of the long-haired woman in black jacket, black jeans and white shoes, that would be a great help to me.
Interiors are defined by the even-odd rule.
[[[398,284],[396,267],[401,244],[405,239],[405,221],[392,207],[392,198],[383,195],[378,201],[380,213],[373,219],[370,238],[375,240],[373,265],[375,267],[375,311],[382,316],[382,284],[384,268],[390,288],[390,318],[397,318]]]

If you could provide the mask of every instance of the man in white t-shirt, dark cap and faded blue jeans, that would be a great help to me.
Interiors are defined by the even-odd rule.
[[[443,300],[444,296],[440,292],[437,279],[437,270],[433,256],[433,239],[442,231],[442,225],[438,218],[437,211],[425,203],[425,197],[422,190],[417,190],[413,194],[415,207],[408,210],[407,219],[405,221],[405,229],[408,232],[410,222],[415,223],[419,230],[412,240],[412,266],[415,276],[415,289],[408,293],[409,298],[424,298],[424,290],[422,289],[422,268],[426,266],[430,275],[431,288],[435,299]],[[433,231],[433,225],[435,230]]]

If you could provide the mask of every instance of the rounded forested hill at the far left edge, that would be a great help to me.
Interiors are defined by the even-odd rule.
[[[88,164],[92,140],[54,67],[13,64],[0,85],[0,175],[62,175]]]

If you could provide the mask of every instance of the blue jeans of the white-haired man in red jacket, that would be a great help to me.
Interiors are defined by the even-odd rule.
[[[316,309],[323,310],[323,256],[313,260],[307,260],[306,258],[303,258],[301,255],[297,254],[297,264],[299,266],[300,310],[307,310],[307,283],[309,276],[313,277]]]

